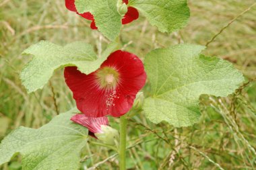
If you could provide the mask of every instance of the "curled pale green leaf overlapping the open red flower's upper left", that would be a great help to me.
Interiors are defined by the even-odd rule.
[[[116,43],[110,44],[102,57],[97,58],[93,47],[84,42],[73,42],[66,46],[47,41],[38,42],[23,52],[34,58],[22,70],[22,84],[28,93],[42,89],[56,69],[67,66],[77,66],[82,73],[90,74],[100,67],[116,47]]]

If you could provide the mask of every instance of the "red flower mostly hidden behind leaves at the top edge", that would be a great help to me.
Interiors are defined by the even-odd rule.
[[[128,0],[123,0],[123,3],[128,4]],[[67,9],[77,13],[77,10],[75,8],[75,0],[65,0],[65,4]],[[77,14],[81,15],[82,17],[88,20],[91,20],[92,21],[91,28],[93,30],[98,29],[94,21],[94,16],[90,12],[86,12],[82,14],[77,13]],[[128,7],[127,13],[125,13],[125,15],[123,16],[122,24],[129,24],[130,22],[133,22],[134,20],[138,19],[138,17],[139,17],[139,12],[137,11],[137,9],[135,9],[134,7]]]

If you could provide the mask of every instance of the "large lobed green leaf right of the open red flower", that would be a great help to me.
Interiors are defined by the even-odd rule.
[[[143,110],[152,122],[191,126],[200,116],[200,95],[226,96],[243,82],[243,75],[230,62],[199,54],[204,48],[180,44],[147,54],[152,96]]]

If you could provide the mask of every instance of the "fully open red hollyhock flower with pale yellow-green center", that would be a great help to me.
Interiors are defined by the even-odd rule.
[[[66,67],[64,75],[77,108],[90,117],[126,114],[147,77],[141,60],[121,50],[110,54],[100,69],[89,75],[77,67]]]

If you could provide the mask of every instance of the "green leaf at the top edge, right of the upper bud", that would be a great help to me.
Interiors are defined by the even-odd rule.
[[[130,0],[129,5],[145,15],[160,32],[174,32],[187,25],[187,0]]]

